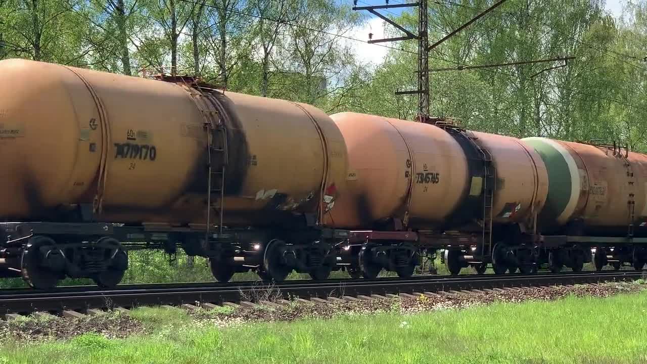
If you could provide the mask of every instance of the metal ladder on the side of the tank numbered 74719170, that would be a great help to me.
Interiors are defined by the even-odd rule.
[[[219,234],[223,233],[225,168],[228,162],[227,130],[218,111],[213,108],[215,106],[213,96],[204,92],[199,86],[197,90],[199,92],[192,92],[190,95],[203,116],[203,129],[207,140],[206,241],[209,241],[210,230],[214,225],[213,215],[218,217]]]

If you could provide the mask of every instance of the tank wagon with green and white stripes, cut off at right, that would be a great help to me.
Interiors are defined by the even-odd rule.
[[[617,145],[541,137],[521,141],[542,157],[548,172],[548,196],[538,216],[543,242],[590,245],[600,268],[619,268],[622,262],[641,268],[647,243],[647,156]],[[554,268],[560,267],[560,255],[569,261],[565,250],[549,251]]]

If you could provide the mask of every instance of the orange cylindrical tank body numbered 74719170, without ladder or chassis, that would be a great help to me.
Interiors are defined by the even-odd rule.
[[[0,153],[10,156],[0,216],[51,218],[97,195],[100,220],[203,222],[207,133],[195,90],[25,60],[0,62],[0,71],[12,85],[0,89]],[[227,124],[225,222],[316,213],[345,179],[344,140],[329,117],[305,104],[214,95],[220,109],[200,107]]]

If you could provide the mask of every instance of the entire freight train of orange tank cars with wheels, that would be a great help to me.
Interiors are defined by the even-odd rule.
[[[253,270],[409,277],[647,259],[647,156],[323,111],[190,77],[0,61],[0,277],[112,287],[127,251]]]

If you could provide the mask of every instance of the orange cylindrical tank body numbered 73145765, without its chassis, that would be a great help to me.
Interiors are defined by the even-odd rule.
[[[331,117],[349,154],[347,191],[336,202],[342,208],[330,214],[337,226],[370,228],[399,219],[413,229],[449,229],[481,218],[479,203],[470,205],[470,199],[483,198],[483,164],[474,161],[468,138],[489,151],[496,170],[496,223],[527,223],[543,207],[545,166],[518,139],[374,115]]]

